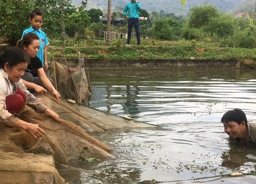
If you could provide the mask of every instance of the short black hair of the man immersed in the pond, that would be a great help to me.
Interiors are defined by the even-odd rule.
[[[247,125],[247,118],[244,111],[239,108],[228,110],[221,118],[222,123],[228,123],[232,121],[237,122],[239,125],[242,123],[242,121],[244,121]]]

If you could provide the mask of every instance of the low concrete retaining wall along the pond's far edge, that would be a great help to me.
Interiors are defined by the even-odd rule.
[[[69,67],[78,65],[77,58],[66,58]],[[66,65],[64,58],[51,58]],[[256,61],[250,61],[247,64],[256,66]],[[244,61],[238,59],[222,60],[222,59],[84,59],[84,67],[86,68],[138,68],[138,67],[234,67],[240,68],[244,65]]]

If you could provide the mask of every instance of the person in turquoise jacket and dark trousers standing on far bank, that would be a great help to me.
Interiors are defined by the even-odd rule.
[[[125,43],[126,46],[130,45],[131,36],[132,36],[132,29],[133,26],[136,31],[137,35],[137,44],[140,45],[140,25],[139,25],[139,10],[141,9],[141,5],[137,0],[131,0],[124,9],[123,15],[128,20],[128,33],[127,33],[127,41]],[[127,15],[127,11],[129,16]]]

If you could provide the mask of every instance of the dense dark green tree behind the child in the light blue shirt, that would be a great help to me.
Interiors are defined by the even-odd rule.
[[[6,43],[15,45],[22,37],[23,31],[30,26],[28,15],[35,7],[44,14],[43,27],[47,36],[60,37],[62,16],[65,16],[66,8],[72,7],[70,0],[1,0],[0,37]],[[63,11],[60,7],[63,7]]]

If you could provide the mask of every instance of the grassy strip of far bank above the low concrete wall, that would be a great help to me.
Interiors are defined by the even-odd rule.
[[[131,46],[124,46],[125,39],[112,40],[106,44],[104,40],[69,39],[62,48],[65,57],[77,57],[77,52],[85,58],[99,59],[252,59],[256,60],[256,49],[224,48],[215,42],[199,42],[196,40],[159,41],[143,39],[141,45],[136,40]],[[50,40],[48,57],[59,57],[61,47],[59,40]]]

